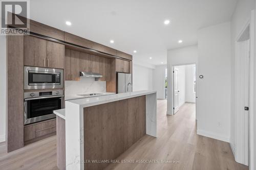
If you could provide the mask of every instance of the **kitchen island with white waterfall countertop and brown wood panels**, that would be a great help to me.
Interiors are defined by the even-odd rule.
[[[142,136],[157,137],[156,91],[70,100],[65,105],[54,111],[59,169],[103,169]]]

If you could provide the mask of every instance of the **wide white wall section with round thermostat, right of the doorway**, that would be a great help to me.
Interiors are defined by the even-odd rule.
[[[197,133],[229,142],[230,22],[198,31]]]

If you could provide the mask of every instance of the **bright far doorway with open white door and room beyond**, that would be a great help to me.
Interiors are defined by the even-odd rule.
[[[196,64],[173,66],[173,114],[185,103],[196,103]]]

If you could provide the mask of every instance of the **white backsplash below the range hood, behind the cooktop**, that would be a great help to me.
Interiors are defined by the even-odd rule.
[[[80,81],[65,81],[66,96],[93,92],[106,92],[106,82],[85,77],[81,77]]]

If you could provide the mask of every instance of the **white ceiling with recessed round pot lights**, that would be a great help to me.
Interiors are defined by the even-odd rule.
[[[167,49],[197,44],[198,29],[229,21],[236,3],[237,0],[30,0],[30,18],[132,54],[135,61],[160,65],[166,63]],[[165,19],[171,21],[167,26],[163,24]],[[66,25],[67,20],[72,26]],[[115,42],[111,44],[110,39]]]

